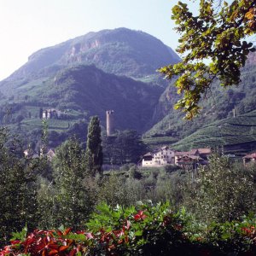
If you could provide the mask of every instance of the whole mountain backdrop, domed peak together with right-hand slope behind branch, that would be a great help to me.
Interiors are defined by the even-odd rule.
[[[144,142],[152,147],[177,143],[186,148],[193,143],[185,137],[207,133],[209,125],[231,119],[233,111],[241,116],[256,110],[256,54],[251,54],[241,70],[241,84],[222,88],[215,81],[201,102],[201,115],[184,121],[183,113],[173,110],[179,97],[174,80],[166,81],[155,71],[179,60],[159,39],[126,28],[90,32],[40,49],[0,82],[0,124],[32,140],[41,133],[41,111],[54,108],[65,118],[48,120],[49,141],[58,138],[61,143],[72,132],[85,134],[91,115],[98,115],[105,127],[106,110],[113,109],[117,129],[146,131]],[[206,144],[209,137],[202,141]]]

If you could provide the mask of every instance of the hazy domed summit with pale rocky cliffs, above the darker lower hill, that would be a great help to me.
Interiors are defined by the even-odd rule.
[[[62,68],[91,64],[106,73],[148,81],[158,77],[157,68],[177,61],[180,59],[171,48],[145,32],[127,28],[89,32],[38,50],[0,83],[0,90],[11,94],[17,80],[48,77]]]

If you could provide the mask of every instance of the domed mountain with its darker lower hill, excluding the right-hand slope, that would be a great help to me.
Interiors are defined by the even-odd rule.
[[[156,69],[179,60],[159,39],[126,28],[89,32],[40,49],[0,82],[0,124],[39,137],[40,111],[55,108],[66,118],[48,120],[54,139],[86,129],[91,115],[99,115],[105,126],[106,110],[113,109],[117,129],[146,131],[167,86]]]

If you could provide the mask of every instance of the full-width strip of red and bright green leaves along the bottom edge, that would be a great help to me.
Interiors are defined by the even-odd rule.
[[[168,204],[108,207],[102,204],[72,231],[23,229],[0,255],[255,255],[256,218],[200,225]]]

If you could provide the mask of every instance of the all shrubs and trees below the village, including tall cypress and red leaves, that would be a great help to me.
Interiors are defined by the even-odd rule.
[[[255,166],[213,154],[194,171],[126,164],[102,172],[100,133],[94,117],[86,150],[70,138],[49,162],[24,159],[19,141],[1,130],[0,255],[255,251]]]

